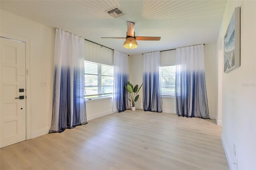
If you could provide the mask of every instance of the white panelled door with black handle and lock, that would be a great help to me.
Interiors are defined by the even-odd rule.
[[[0,147],[26,140],[25,43],[1,38]]]

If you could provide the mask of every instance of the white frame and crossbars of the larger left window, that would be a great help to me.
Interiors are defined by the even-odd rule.
[[[84,60],[84,61],[88,61],[88,60]],[[114,79],[114,66],[113,65],[110,65],[110,64],[106,64],[106,63],[99,63],[99,62],[95,62],[95,61],[88,61],[88,62],[92,62],[92,63],[96,63],[96,64],[98,64],[98,74],[86,74],[85,72],[84,72],[84,75],[97,75],[97,76],[100,76],[101,75],[101,67],[99,67],[100,65],[108,65],[108,66],[112,66],[113,67],[113,76],[110,76],[110,75],[104,75],[104,76],[107,76],[107,77],[113,77],[113,79]],[[98,85],[97,86],[86,86],[85,84],[84,84],[84,98],[86,97],[86,96],[88,96],[88,97],[90,97],[90,96],[95,96],[95,95],[98,95],[98,97],[94,97],[94,98],[85,98],[85,101],[92,101],[92,100],[95,100],[95,99],[105,99],[105,98],[113,98],[113,94],[114,94],[114,83],[113,83],[113,85],[104,85],[104,87],[113,87],[113,91],[112,91],[112,93],[101,93],[101,87],[102,87],[102,85],[101,85],[101,81],[102,81],[102,79],[99,79],[98,78]],[[85,95],[85,91],[86,91],[86,87],[98,87],[98,94],[93,94],[93,95]],[[107,94],[110,94],[110,95],[107,95]],[[99,96],[99,95],[106,95],[106,96]]]

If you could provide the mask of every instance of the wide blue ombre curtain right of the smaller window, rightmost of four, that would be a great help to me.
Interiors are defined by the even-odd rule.
[[[176,113],[209,119],[204,75],[204,45],[176,49]]]

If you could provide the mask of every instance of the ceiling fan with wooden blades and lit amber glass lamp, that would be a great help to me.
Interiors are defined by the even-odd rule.
[[[137,41],[159,41],[161,37],[141,37],[135,36],[135,32],[133,30],[134,22],[127,21],[127,32],[126,37],[102,37],[108,39],[126,39],[124,42],[124,47],[128,49],[134,49],[138,47]]]

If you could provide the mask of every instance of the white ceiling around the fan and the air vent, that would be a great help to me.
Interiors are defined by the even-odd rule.
[[[214,42],[226,1],[14,1],[1,0],[1,9],[47,26],[61,28],[87,40],[134,55],[150,51]],[[126,13],[112,18],[105,11],[115,6]],[[125,49],[126,21],[134,22],[136,36],[160,36],[160,41],[138,41]]]

